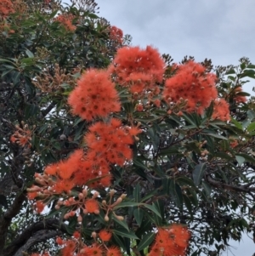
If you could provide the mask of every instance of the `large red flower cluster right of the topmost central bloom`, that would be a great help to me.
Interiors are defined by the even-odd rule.
[[[164,99],[174,103],[181,98],[188,100],[186,111],[202,114],[218,95],[215,87],[216,75],[206,74],[205,71],[205,67],[194,61],[178,65],[176,75],[166,81]]]

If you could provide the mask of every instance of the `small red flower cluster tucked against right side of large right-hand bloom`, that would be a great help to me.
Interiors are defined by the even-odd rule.
[[[212,112],[212,119],[219,119],[222,121],[229,121],[229,103],[224,99],[214,100],[214,107]]]

